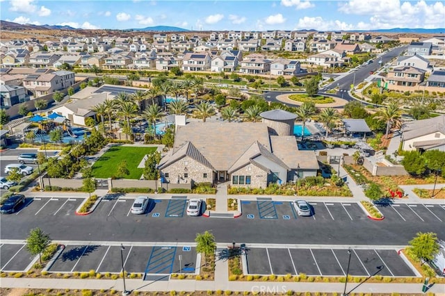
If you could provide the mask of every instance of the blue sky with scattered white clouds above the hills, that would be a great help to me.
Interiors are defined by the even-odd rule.
[[[339,31],[445,27],[444,0],[0,0],[0,6],[3,20],[74,28]]]

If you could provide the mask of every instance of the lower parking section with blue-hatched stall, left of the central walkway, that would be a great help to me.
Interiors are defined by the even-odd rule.
[[[49,272],[122,272],[120,245],[66,245]],[[191,246],[147,246],[124,245],[122,258],[124,268],[129,273],[142,273],[144,278],[165,276],[179,273],[179,256],[181,272],[197,272],[198,258],[195,247]]]

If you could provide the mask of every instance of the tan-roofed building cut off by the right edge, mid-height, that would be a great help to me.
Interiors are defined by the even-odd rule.
[[[402,150],[445,151],[445,115],[405,122],[402,126]]]

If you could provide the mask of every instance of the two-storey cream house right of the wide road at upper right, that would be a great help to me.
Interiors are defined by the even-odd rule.
[[[425,79],[425,70],[412,66],[389,69],[387,77],[383,79],[388,90],[414,91],[419,90],[420,83]]]

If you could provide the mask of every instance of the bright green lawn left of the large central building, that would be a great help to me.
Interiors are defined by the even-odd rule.
[[[111,178],[118,170],[118,165],[125,160],[130,174],[124,179],[139,179],[143,173],[143,169],[138,169],[140,161],[145,154],[154,151],[156,151],[156,147],[111,147],[92,165],[92,176]]]

